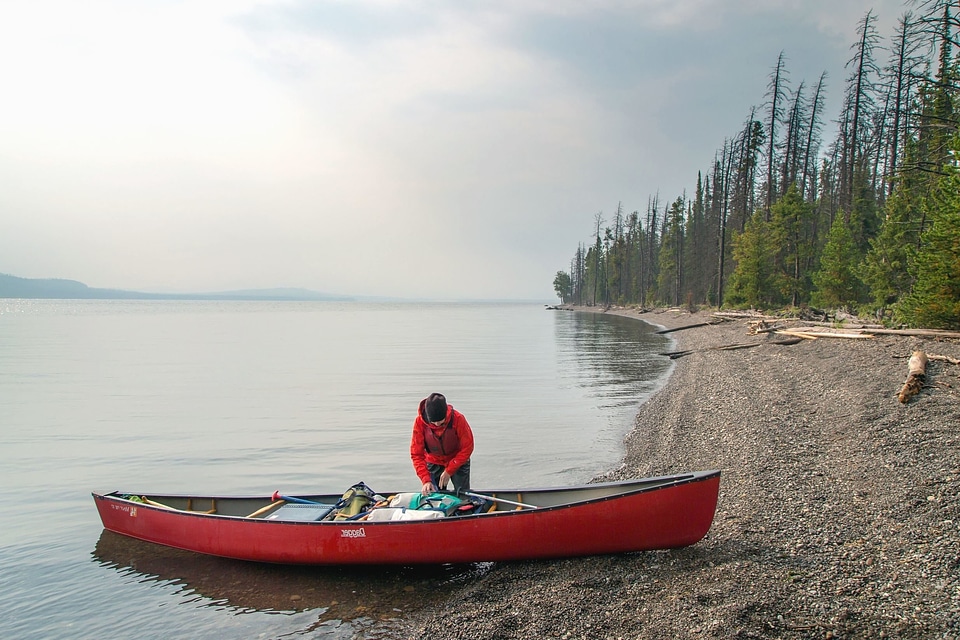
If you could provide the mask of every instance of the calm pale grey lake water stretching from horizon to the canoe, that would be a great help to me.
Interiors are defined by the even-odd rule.
[[[586,482],[669,343],[535,304],[0,299],[0,637],[391,637],[487,567],[200,557],[103,531],[90,491],[415,491],[433,391],[473,427],[475,489]]]

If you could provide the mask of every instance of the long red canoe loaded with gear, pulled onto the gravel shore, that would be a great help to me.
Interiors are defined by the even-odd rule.
[[[94,493],[103,526],[188,551],[282,564],[443,564],[671,549],[713,522],[719,471],[483,491],[482,512],[429,520],[331,520],[341,495],[196,497]],[[409,495],[409,494],[407,494]],[[477,499],[474,499],[477,501]],[[399,517],[402,509],[393,510]],[[334,511],[335,513],[335,511]],[[317,520],[316,518],[322,518]]]

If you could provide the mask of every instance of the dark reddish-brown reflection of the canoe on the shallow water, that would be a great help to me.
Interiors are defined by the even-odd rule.
[[[204,598],[192,606],[250,612],[317,614],[326,622],[390,621],[442,602],[491,563],[425,567],[302,567],[229,560],[155,545],[104,530],[91,554],[123,575],[180,586]]]

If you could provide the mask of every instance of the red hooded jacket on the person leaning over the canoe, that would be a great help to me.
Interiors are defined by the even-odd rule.
[[[452,476],[473,454],[473,431],[463,414],[448,404],[443,425],[434,426],[423,416],[425,403],[426,399],[420,401],[410,440],[413,469],[424,484],[431,482],[428,462],[442,465]]]

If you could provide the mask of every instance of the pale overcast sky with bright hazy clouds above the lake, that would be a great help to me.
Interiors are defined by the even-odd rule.
[[[4,0],[0,273],[550,300],[598,212],[693,192],[781,50],[835,113],[871,8],[886,39],[907,5]]]

